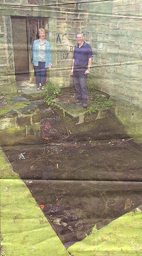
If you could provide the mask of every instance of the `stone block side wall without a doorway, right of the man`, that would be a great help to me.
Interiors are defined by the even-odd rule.
[[[94,50],[98,89],[140,107],[141,14],[141,0],[91,3],[86,30]]]

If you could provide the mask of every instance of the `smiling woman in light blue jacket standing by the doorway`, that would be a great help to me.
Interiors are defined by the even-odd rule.
[[[52,69],[51,46],[45,39],[44,28],[39,28],[39,39],[35,40],[32,46],[32,55],[36,83],[39,84],[37,90],[44,90],[47,79],[47,68]]]

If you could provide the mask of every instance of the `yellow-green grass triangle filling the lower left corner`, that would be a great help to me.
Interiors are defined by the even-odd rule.
[[[12,171],[0,150],[1,160],[1,255],[67,256],[26,184]]]

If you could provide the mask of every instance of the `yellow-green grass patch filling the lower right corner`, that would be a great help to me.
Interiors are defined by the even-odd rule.
[[[142,255],[142,213],[134,210],[69,247],[74,256]]]

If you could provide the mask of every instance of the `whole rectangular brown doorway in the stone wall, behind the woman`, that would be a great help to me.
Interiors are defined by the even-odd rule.
[[[35,82],[32,44],[38,39],[39,28],[45,29],[45,39],[48,40],[48,19],[13,17],[11,23],[16,81]]]

